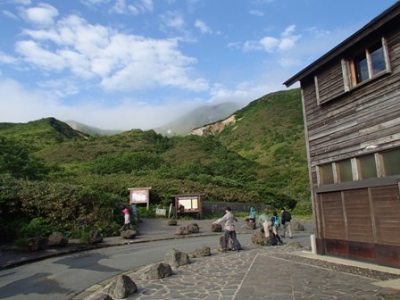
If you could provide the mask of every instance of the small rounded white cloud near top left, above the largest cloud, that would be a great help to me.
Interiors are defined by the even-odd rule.
[[[58,11],[50,4],[37,4],[37,7],[30,7],[22,11],[22,15],[26,21],[41,28],[48,28],[54,24],[54,18],[58,16]]]

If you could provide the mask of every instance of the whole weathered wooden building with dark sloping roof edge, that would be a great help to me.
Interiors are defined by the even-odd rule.
[[[317,254],[400,268],[400,2],[297,81]]]

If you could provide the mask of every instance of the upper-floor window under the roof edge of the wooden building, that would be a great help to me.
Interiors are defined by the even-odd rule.
[[[390,71],[387,44],[385,38],[369,46],[351,60],[351,78],[353,87]]]

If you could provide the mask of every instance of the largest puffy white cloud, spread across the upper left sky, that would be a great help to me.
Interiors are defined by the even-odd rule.
[[[106,90],[208,88],[206,80],[190,78],[196,59],[179,51],[178,39],[121,34],[76,15],[51,29],[23,33],[31,40],[17,42],[16,50],[25,62],[46,71],[70,71],[76,78],[96,79]]]

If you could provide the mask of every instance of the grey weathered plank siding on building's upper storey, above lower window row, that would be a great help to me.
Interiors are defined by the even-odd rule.
[[[369,145],[379,146],[374,151],[400,146],[400,31],[386,37],[390,74],[321,105],[317,103],[314,79],[302,80],[312,168],[368,154],[366,147]],[[321,74],[316,75],[320,96],[344,93],[340,59]],[[321,79],[329,79],[330,86],[322,84]],[[316,187],[316,176],[312,179]]]

